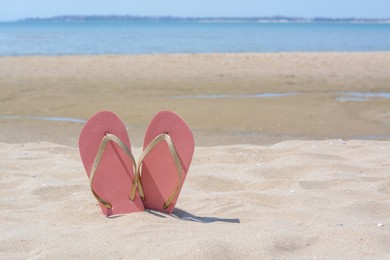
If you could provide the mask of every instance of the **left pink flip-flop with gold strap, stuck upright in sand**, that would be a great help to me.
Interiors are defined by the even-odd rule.
[[[81,131],[79,149],[92,194],[104,215],[144,210],[129,137],[116,114],[102,111],[89,119]]]

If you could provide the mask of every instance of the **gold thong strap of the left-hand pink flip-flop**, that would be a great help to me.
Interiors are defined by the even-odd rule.
[[[136,163],[135,163],[135,160],[134,160],[134,156],[133,154],[131,153],[130,149],[127,147],[127,145],[119,138],[117,137],[116,135],[113,135],[113,134],[106,134],[101,143],[100,143],[100,146],[99,146],[99,149],[98,149],[98,152],[96,154],[96,157],[95,157],[95,160],[92,164],[92,168],[91,168],[91,173],[89,175],[89,184],[90,184],[90,188],[91,188],[91,191],[92,191],[92,194],[95,196],[95,198],[101,203],[103,204],[103,206],[105,206],[106,208],[108,209],[111,209],[112,208],[112,205],[110,202],[108,202],[107,200],[103,199],[102,197],[100,197],[92,188],[92,183],[93,183],[93,179],[95,178],[95,174],[96,174],[96,171],[99,167],[99,164],[100,164],[100,161],[103,157],[103,154],[104,154],[104,151],[107,147],[107,144],[108,142],[115,142],[117,145],[119,145],[120,148],[122,148],[122,150],[127,154],[127,156],[130,158],[132,164],[133,164],[133,168],[134,170],[136,169]],[[135,198],[135,193],[136,193],[136,179],[134,179],[134,182],[133,182],[133,187],[132,187],[132,190],[130,192],[130,200],[134,200]]]

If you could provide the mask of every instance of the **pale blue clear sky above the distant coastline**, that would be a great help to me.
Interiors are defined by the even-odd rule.
[[[111,14],[390,18],[390,0],[0,0],[0,21]]]

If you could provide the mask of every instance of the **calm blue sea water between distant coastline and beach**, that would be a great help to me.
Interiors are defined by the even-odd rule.
[[[0,23],[0,56],[390,51],[390,24],[35,21]]]

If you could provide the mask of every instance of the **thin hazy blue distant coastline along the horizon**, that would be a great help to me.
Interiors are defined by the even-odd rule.
[[[197,21],[197,22],[265,22],[265,23],[310,23],[310,22],[336,22],[336,23],[390,23],[390,18],[332,18],[332,17],[176,17],[176,16],[136,16],[136,15],[62,15],[47,18],[25,18],[18,22],[31,21]]]

